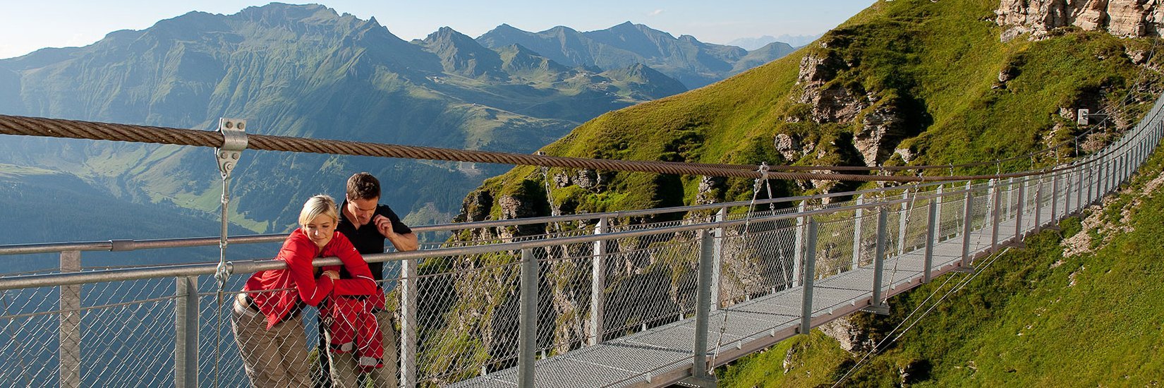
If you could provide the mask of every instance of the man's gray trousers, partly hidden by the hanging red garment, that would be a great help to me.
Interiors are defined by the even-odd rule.
[[[372,372],[369,373],[372,387],[376,388],[397,388],[400,386],[397,381],[397,369],[400,364],[400,354],[399,346],[396,343],[396,326],[392,325],[392,320],[391,312],[376,312],[376,323],[379,324],[379,331],[384,334],[384,367],[372,369]],[[331,334],[327,337],[327,343],[331,344]],[[362,387],[359,383],[360,368],[356,365],[355,352],[342,354],[332,352],[327,353],[332,369],[332,387]]]

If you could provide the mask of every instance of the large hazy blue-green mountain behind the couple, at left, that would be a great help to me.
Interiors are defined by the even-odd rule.
[[[189,13],[88,47],[2,59],[0,113],[184,128],[230,117],[257,134],[528,153],[598,114],[686,90],[647,70],[601,71],[517,45],[490,50],[449,28],[410,43],[375,19],[271,3]],[[95,197],[166,202],[194,214],[218,207],[207,149],[5,136],[0,163],[81,177],[104,191]],[[508,168],[246,151],[232,220],[285,231],[304,199],[342,195],[356,171],[378,175],[384,202],[402,214],[436,209],[442,218]]]

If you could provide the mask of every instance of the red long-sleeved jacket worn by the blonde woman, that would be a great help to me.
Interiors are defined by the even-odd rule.
[[[341,278],[332,281],[329,277],[320,277],[315,281],[315,268],[312,260],[315,258],[338,256],[343,262],[343,268],[352,274],[353,278]],[[283,248],[279,249],[275,260],[283,260],[288,263],[286,269],[262,270],[255,273],[247,280],[243,291],[250,292],[250,297],[258,311],[267,316],[267,329],[270,330],[296,308],[299,301],[308,305],[318,305],[327,295],[372,295],[376,294],[376,281],[368,270],[368,262],[360,256],[356,248],[352,246],[343,233],[335,232],[332,240],[322,249],[303,233],[303,230],[294,230]],[[339,269],[339,267],[324,267],[324,270]]]

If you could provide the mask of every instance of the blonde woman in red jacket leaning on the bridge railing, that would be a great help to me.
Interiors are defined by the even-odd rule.
[[[263,270],[250,276],[235,298],[230,326],[247,376],[255,387],[307,387],[311,385],[307,340],[299,312],[328,295],[360,296],[376,292],[368,263],[342,233],[335,200],[314,196],[303,204],[299,228],[291,232],[275,260],[286,269]],[[315,258],[338,256],[353,278],[340,280],[338,266],[312,266]]]

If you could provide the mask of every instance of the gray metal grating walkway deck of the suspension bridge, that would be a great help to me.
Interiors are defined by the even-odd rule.
[[[1062,214],[1062,204],[1059,214]],[[1042,220],[1051,219],[1049,206],[1043,207]],[[1034,213],[1024,214],[1031,224]],[[988,226],[988,225],[987,225]],[[1032,230],[1032,227],[1024,227]],[[999,224],[1000,240],[1014,235],[1015,219]],[[989,227],[971,233],[971,256],[979,258],[991,249]],[[931,276],[949,273],[961,266],[961,235],[934,245]],[[883,264],[882,298],[900,294],[922,283],[924,247],[888,258]],[[838,275],[816,280],[812,292],[812,326],[840,318],[870,305],[873,287],[872,266],[860,267]],[[718,327],[711,329],[708,340],[708,360],[714,366],[726,364],[751,352],[788,339],[797,333],[801,320],[803,287],[793,287],[730,308],[712,311],[709,322],[723,324],[723,339]],[[724,319],[726,315],[726,319]],[[538,387],[658,387],[667,386],[690,375],[694,353],[695,318],[674,322],[598,345],[582,347],[563,354],[538,360]],[[719,346],[718,344],[722,344]],[[718,346],[718,353],[716,347]],[[718,354],[712,358],[712,354]],[[517,368],[461,381],[450,387],[517,387]]]

